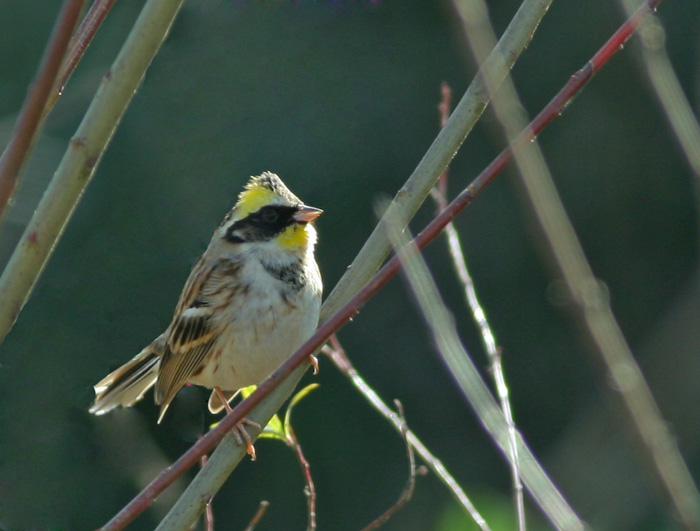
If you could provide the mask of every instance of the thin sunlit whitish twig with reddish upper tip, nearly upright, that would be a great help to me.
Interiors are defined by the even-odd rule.
[[[441,123],[444,125],[447,121],[449,115],[449,101],[450,101],[450,89],[446,83],[442,84],[442,102],[440,103],[439,110],[441,114]],[[440,181],[438,185],[431,190],[431,195],[438,206],[438,214],[447,208],[447,198],[445,196],[447,191],[447,173],[446,169],[440,176]],[[459,278],[462,283],[462,289],[464,290],[465,297],[467,299],[467,305],[472,312],[472,317],[476,323],[479,331],[481,333],[481,340],[486,349],[486,354],[491,362],[491,373],[493,375],[494,384],[496,385],[496,393],[498,394],[498,400],[501,404],[501,410],[506,418],[506,423],[508,424],[508,436],[510,439],[510,465],[511,465],[511,476],[513,481],[513,493],[515,498],[515,513],[518,519],[518,529],[520,531],[525,531],[525,500],[523,497],[523,484],[520,481],[520,459],[518,457],[518,447],[516,444],[516,433],[515,433],[515,422],[513,420],[513,411],[510,406],[510,399],[508,393],[508,385],[506,384],[506,377],[503,372],[503,363],[501,359],[501,351],[496,346],[496,336],[491,331],[491,326],[489,325],[488,319],[486,318],[486,312],[481,307],[479,298],[476,295],[476,288],[474,287],[474,282],[467,269],[467,261],[464,258],[464,251],[462,250],[462,244],[459,241],[459,234],[454,226],[454,223],[450,222],[445,227],[445,236],[447,237],[447,247],[452,257],[452,265],[455,268],[455,273],[457,278]]]

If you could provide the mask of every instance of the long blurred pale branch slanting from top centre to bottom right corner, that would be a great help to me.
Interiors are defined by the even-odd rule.
[[[479,60],[495,43],[486,4],[483,0],[464,0],[458,6],[465,34]],[[493,84],[487,78],[486,83],[493,94],[494,112],[503,124],[508,140],[512,141],[527,123],[515,87],[510,78],[503,83],[494,80]],[[680,521],[688,529],[697,529],[700,527],[700,493],[615,320],[606,291],[586,260],[544,156],[534,142],[515,142],[514,155],[554,259],[629,410],[656,474]]]

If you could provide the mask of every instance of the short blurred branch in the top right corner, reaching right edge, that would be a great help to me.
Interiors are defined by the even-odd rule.
[[[622,0],[629,14],[634,10],[632,0]],[[666,31],[656,15],[650,15],[639,29],[641,56],[651,86],[659,98],[671,130],[676,135],[683,154],[695,174],[695,209],[700,216],[700,125],[686,98],[666,53]]]

